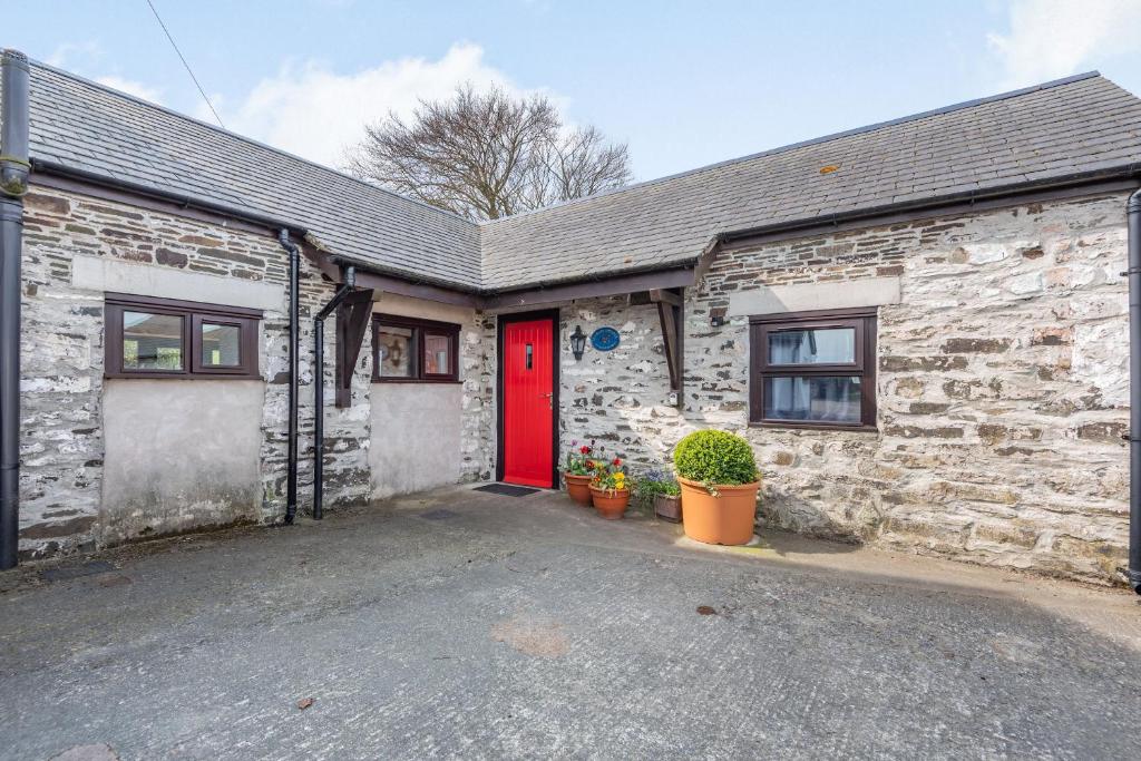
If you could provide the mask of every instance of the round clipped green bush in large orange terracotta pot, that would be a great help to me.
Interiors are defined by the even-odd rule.
[[[748,442],[727,431],[696,431],[678,442],[673,465],[686,536],[706,544],[747,544],[761,485]]]

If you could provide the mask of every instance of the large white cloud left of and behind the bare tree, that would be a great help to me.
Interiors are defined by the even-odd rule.
[[[240,135],[337,167],[343,163],[345,148],[364,136],[365,124],[389,111],[408,116],[420,99],[446,98],[464,82],[520,91],[484,62],[483,48],[455,44],[439,60],[402,58],[355,74],[339,74],[315,62],[285,66],[259,82],[241,105],[219,111],[226,127]]]

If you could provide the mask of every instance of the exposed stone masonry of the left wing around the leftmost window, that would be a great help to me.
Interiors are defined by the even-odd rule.
[[[100,543],[103,469],[103,293],[72,286],[72,257],[259,281],[282,290],[281,310],[261,322],[261,519],[285,509],[289,260],[258,235],[122,203],[34,186],[24,218],[21,552],[40,557]],[[311,315],[333,293],[302,258],[299,504],[311,495]],[[334,321],[326,322],[325,494],[335,508],[369,497],[369,342],[353,382],[353,406],[332,405]],[[225,383],[227,381],[202,381]],[[163,532],[153,527],[154,534]]]

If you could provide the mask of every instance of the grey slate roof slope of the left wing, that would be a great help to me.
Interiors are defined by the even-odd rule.
[[[346,259],[479,286],[478,226],[455,214],[39,63],[30,111],[33,159],[290,221]]]

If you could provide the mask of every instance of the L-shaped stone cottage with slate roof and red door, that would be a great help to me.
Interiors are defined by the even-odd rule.
[[[474,224],[5,67],[19,557],[719,427],[768,525],[1118,578],[1141,100],[1097,73]]]

